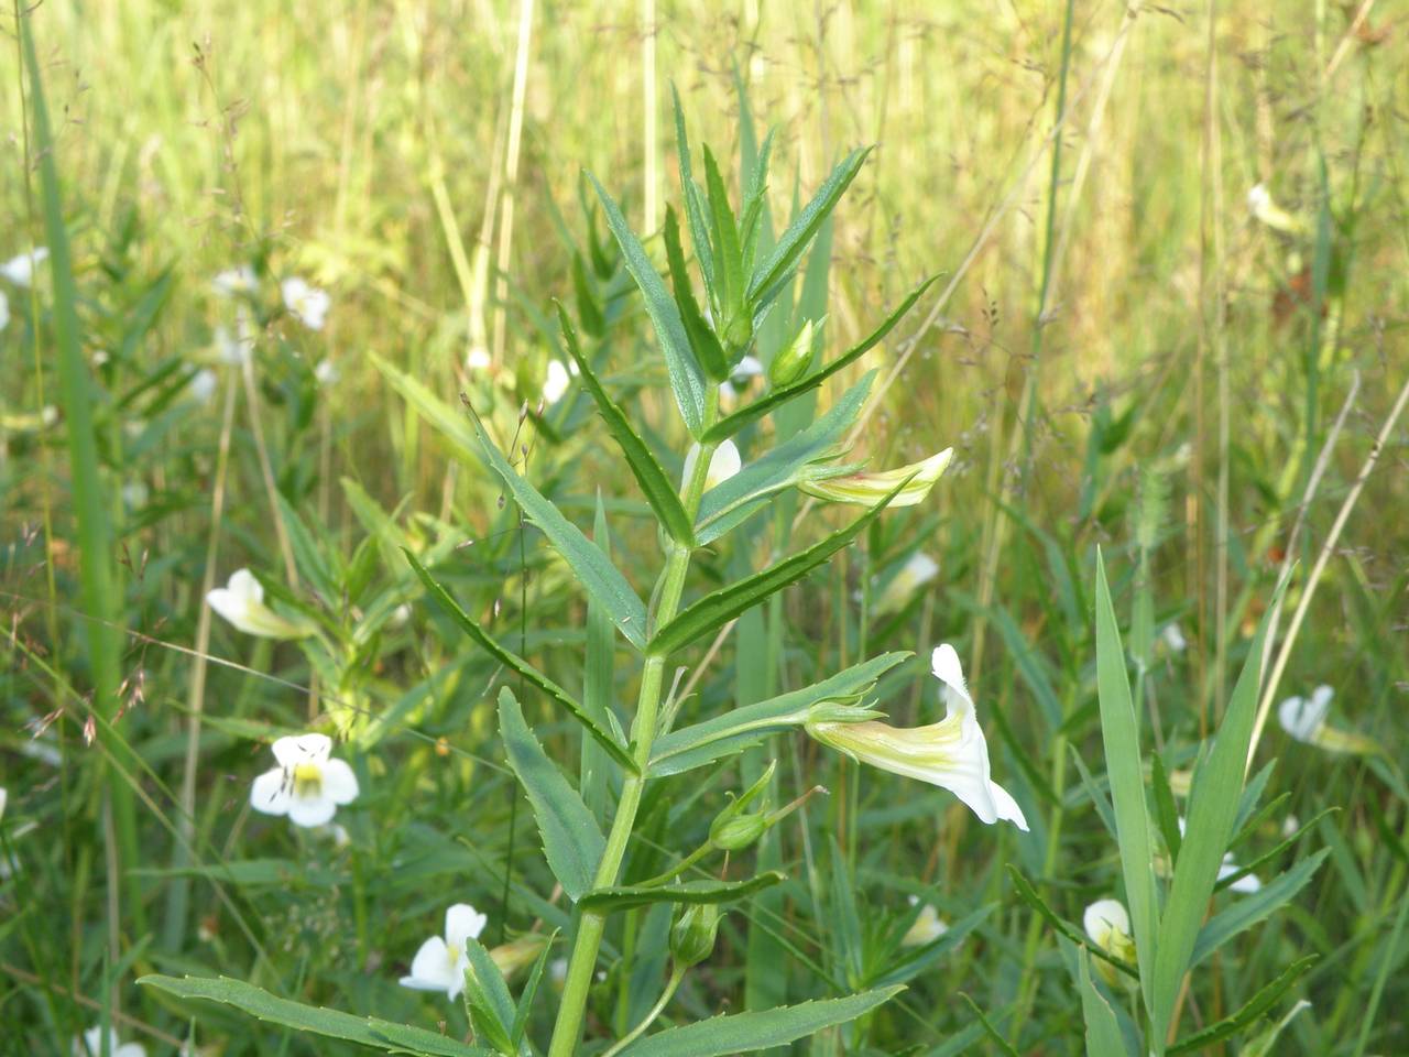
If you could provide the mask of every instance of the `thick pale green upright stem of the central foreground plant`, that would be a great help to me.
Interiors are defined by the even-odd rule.
[[[714,455],[713,444],[702,444],[695,459],[695,472],[685,482],[685,512],[690,520],[699,513],[700,496],[704,495],[704,479]],[[672,543],[665,558],[665,569],[659,581],[659,605],[655,610],[654,627],[668,623],[681,605],[685,592],[685,574],[690,567],[690,548]],[[665,676],[665,657],[647,657],[641,671],[641,692],[637,698],[635,720],[631,724],[633,758],[637,774],[628,774],[621,782],[621,801],[617,803],[607,834],[606,850],[593,878],[596,888],[614,885],[626,858],[626,847],[635,827],[635,813],[641,808],[641,793],[645,791],[647,769],[651,762],[651,746],[657,734],[657,716],[661,707],[661,685]],[[568,958],[568,977],[562,985],[562,1005],[558,1006],[558,1022],[552,1029],[548,1057],[571,1057],[582,1037],[582,1018],[588,1006],[588,989],[592,987],[592,972],[597,964],[597,950],[606,932],[606,913],[585,910],[578,925],[578,937]]]

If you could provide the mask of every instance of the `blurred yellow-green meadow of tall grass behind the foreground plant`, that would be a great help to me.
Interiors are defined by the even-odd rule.
[[[1262,730],[1254,768],[1277,758],[1264,801],[1284,799],[1240,860],[1277,847],[1288,816],[1324,809],[1278,861],[1330,855],[1284,912],[1198,970],[1186,1023],[1217,1020],[1317,954],[1296,991],[1312,1009],[1279,1044],[1409,1047],[1409,485],[1405,428],[1384,433],[1409,379],[1402,13],[1292,0],[51,1],[27,23],[52,147],[35,128],[15,18],[4,16],[0,51],[0,258],[55,247],[59,231],[76,283],[8,288],[0,333],[13,858],[0,882],[0,1025],[38,1047],[24,1051],[68,1053],[100,1009],[154,1047],[185,1039],[179,1012],[130,987],[151,968],[414,1019],[396,967],[445,903],[472,901],[510,936],[548,913],[551,881],[520,865],[534,837],[496,762],[479,696],[488,667],[420,612],[371,651],[359,700],[396,706],[396,719],[365,764],[376,820],[352,813],[351,850],[334,853],[251,830],[241,809],[263,768],[252,738],[297,727],[342,688],[297,653],[213,623],[201,598],[245,564],[300,596],[296,551],[309,544],[290,538],[297,521],[275,492],[314,526],[314,550],[341,560],[378,506],[411,536],[473,540],[454,551],[462,586],[502,636],[581,684],[569,647],[585,609],[564,569],[504,520],[497,488],[372,355],[454,406],[480,392],[466,358],[488,352],[507,435],[557,355],[550,297],[571,297],[589,224],[604,233],[600,216],[588,220],[581,171],[645,233],[676,200],[672,83],[692,135],[721,156],[748,147],[744,99],[758,128],[776,127],[775,216],[843,151],[876,144],[831,233],[827,344],[862,337],[940,272],[865,361],[885,389],[858,451],[893,465],[955,447],[921,513],[792,589],[771,624],[786,629],[776,669],[735,672],[726,638],[692,688],[726,700],[865,648],[952,640],[992,717],[995,767],[1016,775],[1036,823],[1023,837],[981,832],[944,793],[902,799],[892,779],[790,747],[785,801],[817,784],[831,796],[769,853],[796,891],[730,920],[713,984],[764,987],[745,968],[755,958],[795,994],[809,975],[865,975],[864,951],[837,953],[830,934],[845,877],[888,913],[903,913],[906,895],[950,920],[992,906],[867,1044],[1079,1050],[1062,954],[1003,867],[1071,920],[1117,885],[1115,840],[1079,774],[1105,772],[1089,588],[1102,544],[1122,620],[1143,599],[1151,627],[1177,623],[1188,641],[1144,645],[1147,746],[1168,747],[1171,767],[1217,727],[1284,567],[1295,572],[1267,693],[1330,682],[1336,722],[1382,747],[1333,757],[1286,738],[1275,716]],[[1258,183],[1296,231],[1253,218]],[[327,288],[328,326],[275,320],[259,376],[223,373],[214,402],[193,410],[189,365],[231,326],[210,279],[249,261],[269,282]],[[631,314],[620,340],[635,351],[616,361],[630,382],[654,368],[638,307],[619,309]],[[96,386],[61,400],[66,313],[82,321],[70,366]],[[313,381],[324,358],[333,385]],[[85,427],[73,409],[89,400]],[[62,404],[61,423],[46,404]],[[669,409],[641,410],[662,423]],[[526,427],[530,472],[541,464],[559,502],[576,497],[582,526],[600,488],[631,569],[626,541],[644,523],[634,500],[612,502],[633,493],[624,475],[606,476],[602,431],[585,404],[547,420],[559,428]],[[70,440],[80,433],[96,450]],[[354,496],[368,500],[361,514]],[[107,527],[86,531],[93,519]],[[382,533],[375,576],[396,583],[406,569],[392,540]],[[899,616],[871,614],[871,585],[914,550],[938,561],[938,578]],[[726,558],[765,560],[720,555],[704,575]],[[103,671],[100,640],[118,631],[121,655]],[[933,715],[920,674],[888,691],[893,716]],[[571,748],[564,731],[554,750]],[[750,926],[765,915],[759,940]],[[702,988],[679,1001],[696,1015],[717,1008]],[[628,1012],[597,1009],[623,1025]],[[197,1040],[256,1051],[241,1049],[255,1043],[240,1023],[214,1018]]]

